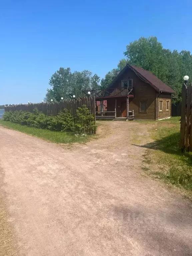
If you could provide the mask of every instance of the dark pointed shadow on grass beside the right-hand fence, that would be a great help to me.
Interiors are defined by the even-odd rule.
[[[179,139],[180,139],[180,133],[174,133],[171,134],[167,137],[164,137],[159,140],[155,140],[151,143],[147,143],[145,145],[135,145],[137,147],[142,147],[142,148],[149,148],[149,149],[154,149],[154,150],[161,150],[165,153],[169,154],[174,154],[181,156],[180,160],[185,162],[187,165],[191,166],[192,165],[192,155],[185,152],[181,152],[179,149]]]

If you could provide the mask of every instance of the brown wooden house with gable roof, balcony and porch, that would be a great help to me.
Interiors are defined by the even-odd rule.
[[[96,100],[96,119],[168,118],[174,93],[151,72],[130,64],[107,89],[91,91]]]

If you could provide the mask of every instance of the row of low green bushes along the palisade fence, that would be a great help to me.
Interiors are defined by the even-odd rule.
[[[57,116],[46,116],[35,108],[32,113],[24,110],[6,111],[3,118],[5,121],[55,131],[89,133],[96,129],[94,116],[86,105],[76,110],[75,117],[67,109]]]

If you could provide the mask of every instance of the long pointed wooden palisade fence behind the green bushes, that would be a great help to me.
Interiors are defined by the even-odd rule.
[[[92,114],[95,118],[95,97],[83,97],[71,100],[61,100],[59,102],[42,102],[42,103],[29,103],[29,104],[18,104],[6,106],[5,111],[16,111],[16,110],[26,110],[32,112],[34,108],[37,108],[41,112],[43,112],[47,116],[56,116],[60,111],[65,108],[70,111],[70,113],[75,116],[76,109],[81,107],[82,105],[86,105],[90,114]],[[95,133],[94,131],[90,131],[91,133]]]

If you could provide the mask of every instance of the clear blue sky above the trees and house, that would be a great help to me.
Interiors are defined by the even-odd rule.
[[[189,0],[0,0],[0,104],[41,101],[59,67],[102,78],[141,36],[192,51],[191,9]]]

